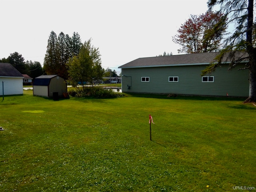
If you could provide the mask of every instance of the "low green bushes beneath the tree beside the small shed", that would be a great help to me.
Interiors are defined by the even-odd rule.
[[[104,89],[102,87],[72,87],[68,88],[68,94],[72,97],[89,97],[89,98],[117,98],[123,97],[124,94],[113,92],[111,89]]]

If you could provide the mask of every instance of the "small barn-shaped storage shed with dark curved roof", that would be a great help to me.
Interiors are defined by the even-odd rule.
[[[65,80],[58,75],[41,75],[34,79],[34,95],[58,98],[67,91]]]

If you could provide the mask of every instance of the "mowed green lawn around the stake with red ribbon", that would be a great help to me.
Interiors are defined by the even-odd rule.
[[[242,100],[0,99],[2,192],[256,188],[256,107]]]

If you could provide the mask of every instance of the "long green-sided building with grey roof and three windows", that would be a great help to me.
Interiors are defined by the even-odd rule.
[[[218,52],[138,58],[122,69],[122,92],[202,96],[249,96],[249,70],[228,70],[226,60],[201,76]],[[247,62],[247,61],[244,61]]]

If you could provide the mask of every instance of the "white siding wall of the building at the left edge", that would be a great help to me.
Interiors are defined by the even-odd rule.
[[[0,77],[0,95],[3,95],[3,81],[4,81],[4,95],[19,95],[23,94],[23,78],[9,78]]]

